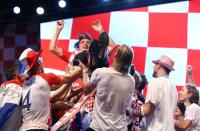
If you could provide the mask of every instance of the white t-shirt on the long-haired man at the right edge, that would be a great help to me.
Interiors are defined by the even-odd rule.
[[[200,107],[193,103],[186,107],[185,120],[191,120],[192,125],[187,131],[200,131]]]

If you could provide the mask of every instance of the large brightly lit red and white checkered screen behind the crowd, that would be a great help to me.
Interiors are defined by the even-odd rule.
[[[194,76],[200,86],[200,0],[65,19],[58,45],[73,51],[79,33],[88,32],[97,38],[98,33],[91,28],[97,19],[117,44],[133,47],[134,65],[148,80],[152,79],[152,60],[166,54],[175,61],[170,79],[178,88],[186,82],[188,64],[194,67]],[[67,65],[48,51],[55,24],[56,21],[52,21],[40,26],[46,71],[63,71]]]

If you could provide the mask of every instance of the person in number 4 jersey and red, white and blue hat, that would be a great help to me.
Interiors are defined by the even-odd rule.
[[[43,66],[39,62],[40,55],[41,51],[35,52],[28,48],[19,58],[19,73],[27,76],[22,91],[22,131],[48,130],[51,123],[50,91],[62,84],[71,84],[81,74],[80,69],[65,76],[43,73]]]

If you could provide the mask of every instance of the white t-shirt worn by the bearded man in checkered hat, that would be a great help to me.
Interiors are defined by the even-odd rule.
[[[178,100],[177,89],[167,76],[149,82],[146,103],[155,105],[155,110],[146,118],[147,131],[174,131],[173,114]]]

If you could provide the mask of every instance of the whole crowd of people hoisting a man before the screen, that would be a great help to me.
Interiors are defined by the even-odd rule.
[[[25,49],[1,84],[0,130],[51,130],[86,98],[79,112],[59,130],[200,131],[199,91],[191,65],[188,83],[178,92],[169,79],[175,63],[168,56],[152,60],[154,79],[147,82],[132,64],[133,49],[116,44],[100,20],[91,26],[99,32],[99,39],[79,34],[74,52],[57,46],[63,27],[64,21],[57,21],[49,51],[68,63],[65,74],[45,73],[42,50]],[[145,86],[146,97],[142,94]]]

